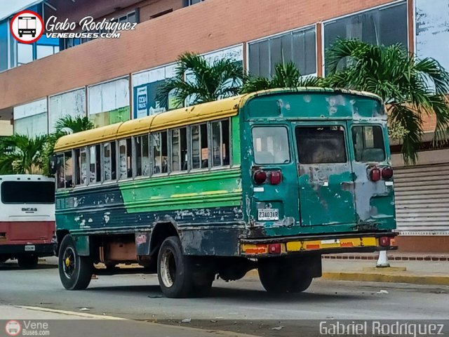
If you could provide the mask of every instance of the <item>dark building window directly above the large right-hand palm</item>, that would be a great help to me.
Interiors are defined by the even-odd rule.
[[[335,39],[360,39],[368,44],[408,48],[407,2],[356,13],[324,24],[324,48]]]

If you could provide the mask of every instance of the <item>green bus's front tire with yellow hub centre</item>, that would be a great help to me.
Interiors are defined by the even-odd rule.
[[[79,256],[71,235],[62,239],[58,269],[62,285],[67,290],[84,290],[91,283],[93,262],[90,256]]]

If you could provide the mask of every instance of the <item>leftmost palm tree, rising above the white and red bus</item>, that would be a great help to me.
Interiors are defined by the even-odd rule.
[[[46,163],[47,136],[13,135],[0,140],[0,174],[39,173]]]

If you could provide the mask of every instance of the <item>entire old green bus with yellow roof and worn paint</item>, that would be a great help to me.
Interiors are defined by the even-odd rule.
[[[304,291],[321,255],[394,249],[379,97],[274,89],[64,136],[55,145],[60,279],[139,263],[163,293],[203,294],[257,268]]]

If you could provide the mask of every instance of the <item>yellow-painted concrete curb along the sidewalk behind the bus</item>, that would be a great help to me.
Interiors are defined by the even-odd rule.
[[[258,277],[257,270],[250,270],[247,277]],[[322,279],[334,281],[388,282],[449,286],[449,275],[417,275],[410,272],[323,272]]]

